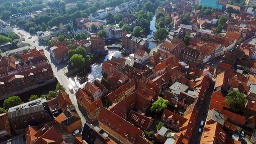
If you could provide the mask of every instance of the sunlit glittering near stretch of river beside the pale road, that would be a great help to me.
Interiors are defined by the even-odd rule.
[[[102,76],[101,66],[103,61],[111,59],[112,56],[121,58],[124,57],[123,54],[118,50],[109,51],[109,54],[98,57],[98,59],[91,64],[90,68],[82,69],[81,71],[69,76],[69,81],[75,88],[78,88],[86,81],[94,81],[96,78],[100,78]]]

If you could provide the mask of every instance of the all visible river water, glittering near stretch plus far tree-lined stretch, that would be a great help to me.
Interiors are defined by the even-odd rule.
[[[156,31],[155,27],[155,16],[152,18],[152,21],[150,22],[150,34],[146,37],[147,39],[152,40],[153,38],[153,32]],[[149,42],[149,49],[155,48],[157,46],[156,42]],[[91,64],[90,68],[83,69],[81,71],[78,71],[72,75],[69,76],[69,81],[74,86],[74,88],[78,88],[81,86],[82,83],[86,81],[94,81],[96,78],[101,78],[101,66],[103,61],[106,61],[107,59],[111,59],[111,57],[121,57],[124,58],[125,56],[121,54],[120,51],[114,50],[109,51],[109,54],[102,56],[99,58],[95,63]]]

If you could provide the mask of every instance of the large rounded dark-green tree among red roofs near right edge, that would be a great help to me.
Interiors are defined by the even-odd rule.
[[[235,112],[242,112],[247,103],[246,97],[237,90],[230,91],[226,96],[225,102],[229,104],[230,108]]]

